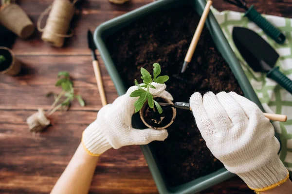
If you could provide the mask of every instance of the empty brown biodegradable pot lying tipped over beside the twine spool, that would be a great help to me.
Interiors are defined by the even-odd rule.
[[[4,4],[0,9],[0,24],[20,38],[28,38],[35,27],[26,13],[17,4]]]

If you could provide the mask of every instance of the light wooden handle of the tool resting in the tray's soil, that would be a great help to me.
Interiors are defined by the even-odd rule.
[[[193,54],[195,52],[195,49],[197,47],[198,41],[199,41],[200,36],[201,36],[201,32],[202,32],[204,24],[205,24],[205,21],[207,19],[208,14],[209,14],[211,5],[212,5],[212,0],[208,0],[207,4],[206,4],[206,7],[205,7],[205,9],[203,11],[203,14],[201,16],[200,22],[198,24],[198,27],[196,29],[196,32],[195,32],[195,34],[193,36],[192,42],[191,42],[191,44],[190,44],[190,46],[189,46],[189,48],[187,50],[187,53],[185,55],[185,58],[184,58],[185,62],[189,63],[192,60]]]

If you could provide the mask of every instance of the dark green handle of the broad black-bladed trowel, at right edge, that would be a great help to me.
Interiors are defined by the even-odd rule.
[[[278,82],[280,86],[285,88],[292,94],[292,80],[287,78],[282,72],[279,71],[279,67],[274,67],[267,73],[267,77]]]

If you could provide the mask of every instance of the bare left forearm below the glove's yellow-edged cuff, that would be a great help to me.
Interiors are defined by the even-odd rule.
[[[97,161],[80,144],[51,194],[87,194]]]

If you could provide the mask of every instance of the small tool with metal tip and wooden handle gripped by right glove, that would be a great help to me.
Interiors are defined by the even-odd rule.
[[[192,108],[190,107],[190,103],[187,102],[175,102],[174,104],[164,103],[164,102],[158,102],[161,106],[172,106],[178,109],[184,109],[191,111]],[[264,116],[271,121],[280,121],[280,122],[286,122],[287,121],[287,115],[283,114],[272,114],[272,113],[263,113]]]

